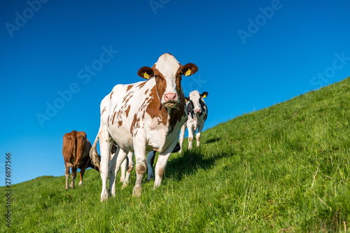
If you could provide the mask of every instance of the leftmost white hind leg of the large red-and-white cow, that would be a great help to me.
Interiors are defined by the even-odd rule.
[[[107,178],[109,176],[109,154],[111,153],[112,144],[113,139],[111,139],[109,132],[102,129],[99,137],[99,149],[101,152],[101,163],[99,166],[101,169],[102,179],[102,192],[100,197],[101,202],[109,197],[109,193],[107,191]]]

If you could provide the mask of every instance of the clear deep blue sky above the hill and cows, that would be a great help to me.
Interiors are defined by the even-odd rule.
[[[349,8],[324,0],[1,1],[0,172],[11,153],[12,183],[63,176],[63,135],[76,129],[94,141],[104,96],[141,80],[139,68],[164,52],[199,67],[182,84],[186,96],[209,92],[204,129],[342,80],[350,76]]]

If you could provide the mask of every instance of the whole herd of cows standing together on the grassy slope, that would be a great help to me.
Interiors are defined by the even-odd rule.
[[[64,134],[62,153],[66,167],[66,190],[74,188],[76,171],[79,168],[80,182],[87,167],[100,172],[102,178],[101,202],[116,195],[116,174],[121,170],[123,187],[129,183],[134,168],[137,180],[133,195],[141,195],[141,181],[148,168],[147,179],[155,178],[154,187],[160,185],[171,153],[182,151],[183,137],[188,129],[188,149],[197,131],[197,146],[207,120],[208,109],[204,102],[208,92],[193,91],[189,97],[183,94],[182,76],[196,73],[195,64],[181,65],[176,58],[165,53],[152,68],[144,66],[138,71],[146,81],[130,85],[116,85],[101,102],[99,132],[93,145],[85,132]],[[180,143],[178,143],[180,134]],[[101,156],[97,153],[97,141]],[[155,152],[159,152],[153,174]],[[146,152],[148,156],[146,159]],[[109,190],[107,178],[109,177]]]

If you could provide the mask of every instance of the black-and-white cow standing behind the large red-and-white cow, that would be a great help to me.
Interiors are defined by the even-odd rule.
[[[188,130],[188,150],[192,149],[192,141],[195,132],[197,131],[197,147],[200,146],[200,134],[204,127],[204,122],[207,120],[208,108],[204,102],[204,98],[208,96],[208,92],[200,94],[197,90],[190,92],[189,97],[186,97],[187,121],[181,127],[179,153],[182,153],[183,137],[185,136],[186,127]]]

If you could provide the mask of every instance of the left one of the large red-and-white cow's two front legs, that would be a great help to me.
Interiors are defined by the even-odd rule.
[[[141,132],[138,132],[137,135],[141,135]],[[144,177],[144,173],[147,169],[146,140],[143,136],[134,136],[134,151],[136,160],[136,182],[132,195],[140,197],[142,190],[142,177]]]

